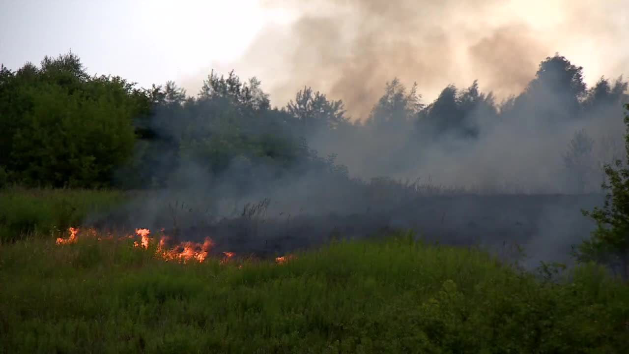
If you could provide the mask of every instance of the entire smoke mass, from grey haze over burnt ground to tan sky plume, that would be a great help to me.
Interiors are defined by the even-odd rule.
[[[629,69],[620,46],[629,0],[595,8],[567,0],[266,4],[292,9],[297,20],[267,28],[231,67],[262,79],[278,106],[304,85],[343,100],[359,123],[300,133],[359,180],[327,165],[278,177],[243,156],[214,175],[203,161],[183,159],[162,191],[142,195],[116,222],[175,226],[189,239],[211,236],[226,250],[262,253],[331,234],[415,229],[444,243],[524,244],[530,265],[565,259],[569,244],[587,237],[592,225],[580,209],[602,201],[602,164],[625,158],[626,83],[597,80]],[[540,66],[555,52],[583,66],[589,85],[562,57]],[[394,77],[402,84],[380,100]],[[413,81],[421,104],[400,103]],[[222,119],[207,106],[191,111],[201,123]],[[154,127],[158,134],[199,130],[179,127],[185,120],[175,116]]]

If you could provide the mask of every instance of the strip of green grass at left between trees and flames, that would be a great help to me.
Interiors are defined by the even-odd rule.
[[[54,239],[86,215],[115,207],[125,200],[114,190],[24,189],[0,190],[0,243],[25,234]]]

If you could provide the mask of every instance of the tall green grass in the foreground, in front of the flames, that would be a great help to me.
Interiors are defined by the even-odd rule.
[[[593,265],[540,282],[399,236],[239,269],[131,242],[0,246],[0,351],[629,353],[629,287]]]

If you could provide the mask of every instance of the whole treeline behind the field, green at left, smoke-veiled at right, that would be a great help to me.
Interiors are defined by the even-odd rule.
[[[312,147],[351,149],[369,140],[381,156],[365,158],[386,160],[379,168],[389,171],[400,163],[391,156],[419,156],[445,137],[474,142],[504,122],[560,127],[615,113],[626,89],[622,78],[587,88],[582,68],[557,54],[523,93],[501,103],[475,81],[447,86],[425,105],[416,85],[394,79],[369,117],[352,118],[342,101],[308,87],[282,108],[271,107],[255,77],[241,81],[234,72],[211,72],[195,96],[172,82],[138,89],[118,76],[90,76],[69,53],[17,71],[1,67],[0,185],[160,187],[186,164],[214,176],[238,165],[242,174],[318,169],[347,178],[334,154],[320,157]]]

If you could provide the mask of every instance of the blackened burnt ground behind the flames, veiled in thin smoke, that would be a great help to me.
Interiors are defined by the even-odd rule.
[[[182,217],[173,216],[167,204],[162,215],[148,222],[127,208],[100,215],[91,225],[125,232],[135,227],[164,228],[175,241],[202,241],[209,236],[216,251],[262,257],[311,248],[335,237],[357,239],[402,229],[415,231],[430,242],[476,245],[507,256],[518,244],[525,249],[525,266],[537,266],[540,260],[569,261],[571,244],[589,236],[594,227],[581,209],[602,205],[603,200],[603,195],[594,194],[435,195],[345,214],[257,210],[221,219],[203,219],[193,210]]]

